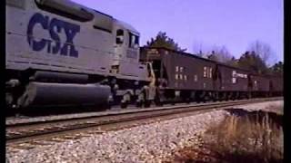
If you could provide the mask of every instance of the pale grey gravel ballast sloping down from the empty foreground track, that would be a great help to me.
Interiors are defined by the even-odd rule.
[[[283,101],[249,104],[239,108],[264,110]],[[229,113],[215,110],[175,120],[159,121],[130,129],[108,131],[81,139],[68,139],[35,149],[6,148],[9,162],[161,162],[176,149],[197,143],[212,124]]]

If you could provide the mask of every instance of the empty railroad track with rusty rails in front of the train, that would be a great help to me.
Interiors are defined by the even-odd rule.
[[[243,101],[212,102],[195,105],[160,107],[143,110],[124,110],[88,117],[71,119],[34,121],[6,126],[6,145],[20,146],[20,144],[42,144],[39,141],[49,139],[75,139],[84,137],[86,133],[102,133],[106,130],[120,129],[140,125],[156,120],[174,119],[211,110],[233,108],[236,105],[256,103],[262,101],[277,101],[282,98],[255,99]],[[85,133],[85,135],[80,134]],[[19,148],[19,147],[18,147]]]

